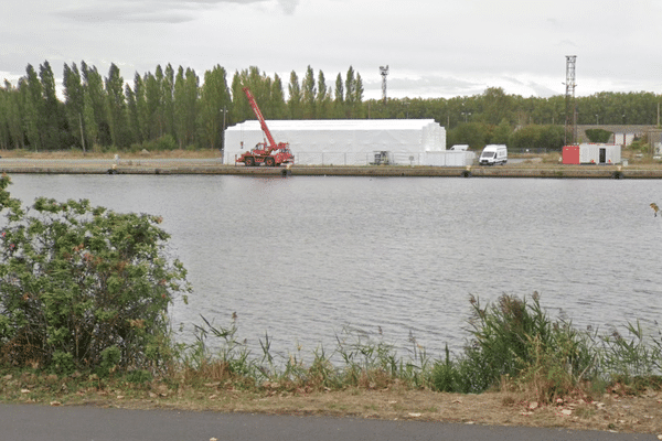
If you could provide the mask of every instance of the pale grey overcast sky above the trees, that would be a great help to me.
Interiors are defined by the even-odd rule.
[[[168,63],[201,76],[257,66],[284,83],[310,65],[328,85],[353,66],[366,99],[662,94],[662,0],[20,0],[0,13],[0,79],[49,61],[135,73]],[[287,92],[287,88],[286,88]]]

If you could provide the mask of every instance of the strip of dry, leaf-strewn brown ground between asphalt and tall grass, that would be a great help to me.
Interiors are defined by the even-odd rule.
[[[277,384],[267,385],[266,391],[252,392],[227,389],[220,383],[196,388],[184,386],[177,391],[158,383],[139,389],[114,389],[109,386],[68,392],[64,384],[55,389],[58,390],[43,394],[38,387],[33,389],[12,379],[11,375],[0,377],[0,400],[8,402],[554,427],[651,433],[662,439],[662,392],[653,390],[639,396],[606,394],[599,400],[568,399],[544,405],[523,399],[514,392],[439,394],[407,390],[397,384],[382,390],[310,392],[303,389],[279,391]]]

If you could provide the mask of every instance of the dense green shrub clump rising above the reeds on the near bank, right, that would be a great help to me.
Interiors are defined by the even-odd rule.
[[[466,390],[482,391],[510,378],[549,400],[595,375],[594,340],[552,321],[537,293],[532,304],[508,294],[484,309],[477,299],[471,304],[471,338],[458,362]]]

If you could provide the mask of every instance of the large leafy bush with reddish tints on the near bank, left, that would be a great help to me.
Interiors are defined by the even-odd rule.
[[[88,201],[38,198],[25,212],[0,178],[0,362],[73,368],[158,368],[169,353],[168,305],[189,291],[169,235],[150,215]]]

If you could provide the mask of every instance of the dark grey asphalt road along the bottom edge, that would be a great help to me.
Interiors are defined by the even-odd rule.
[[[631,441],[653,434],[254,413],[0,405],[0,441]]]

